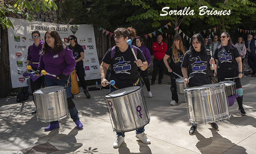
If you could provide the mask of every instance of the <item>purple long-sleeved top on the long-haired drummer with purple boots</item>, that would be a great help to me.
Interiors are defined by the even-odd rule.
[[[65,50],[60,54],[51,54],[52,48],[45,54],[41,54],[38,69],[45,70],[50,74],[58,76],[62,72],[68,76],[74,70],[76,66],[76,60],[73,56],[72,50],[65,47]],[[48,76],[48,78],[55,78],[54,76]]]

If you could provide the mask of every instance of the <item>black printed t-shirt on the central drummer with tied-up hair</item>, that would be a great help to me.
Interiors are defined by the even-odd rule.
[[[138,66],[136,65],[134,55],[130,47],[125,52],[120,52],[116,46],[116,52],[113,58],[111,58],[111,50],[108,49],[102,61],[111,65],[110,80],[114,80],[117,88],[126,88],[134,86],[134,83],[139,78]],[[142,62],[146,61],[146,58],[142,54],[139,48],[137,48],[137,58]]]

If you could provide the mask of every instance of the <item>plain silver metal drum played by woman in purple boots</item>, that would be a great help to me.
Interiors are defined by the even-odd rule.
[[[68,116],[66,89],[64,86],[50,86],[34,91],[37,120],[52,122]]]

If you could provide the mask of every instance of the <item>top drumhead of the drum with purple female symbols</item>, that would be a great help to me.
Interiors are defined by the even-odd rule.
[[[110,92],[105,96],[105,98],[114,98],[114,97],[119,97],[119,96],[124,96],[127,94],[130,94],[132,92],[136,92],[139,90],[141,87],[140,86],[132,86],[132,87],[127,87],[127,88],[122,88],[119,90],[116,90],[114,92]]]

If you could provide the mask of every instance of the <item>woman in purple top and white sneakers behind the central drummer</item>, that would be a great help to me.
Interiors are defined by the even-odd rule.
[[[146,58],[146,60],[148,62],[148,66],[149,66],[150,61],[151,61],[151,55],[150,55],[148,48],[146,48],[146,46],[144,45],[143,39],[141,37],[136,38],[136,46],[142,51],[142,54]],[[150,91],[150,82],[148,79],[148,68],[144,71],[139,68],[139,72],[142,75],[143,81],[148,90],[148,97],[151,98],[153,95],[152,95],[152,92]]]

